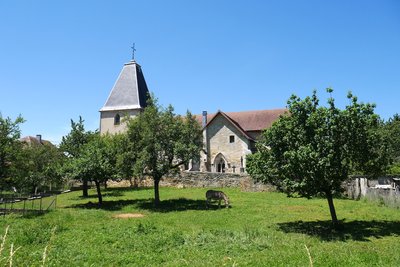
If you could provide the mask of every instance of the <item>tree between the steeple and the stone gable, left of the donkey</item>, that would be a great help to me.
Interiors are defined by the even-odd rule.
[[[150,100],[146,109],[128,122],[134,173],[154,180],[154,204],[160,203],[161,178],[198,157],[202,147],[200,125],[190,112],[182,118],[170,105],[163,108]]]

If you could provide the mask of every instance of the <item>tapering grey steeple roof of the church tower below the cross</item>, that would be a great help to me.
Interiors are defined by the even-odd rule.
[[[100,111],[142,109],[149,94],[142,69],[136,61],[126,63]]]

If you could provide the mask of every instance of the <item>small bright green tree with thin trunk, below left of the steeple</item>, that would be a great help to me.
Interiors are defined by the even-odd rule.
[[[79,156],[71,160],[72,177],[94,181],[99,204],[103,203],[100,185],[115,173],[115,149],[109,135],[94,134],[81,147]]]

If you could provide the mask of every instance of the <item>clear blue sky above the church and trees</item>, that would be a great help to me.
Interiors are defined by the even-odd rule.
[[[0,112],[58,143],[124,63],[179,114],[285,107],[333,87],[400,112],[400,1],[0,1]]]

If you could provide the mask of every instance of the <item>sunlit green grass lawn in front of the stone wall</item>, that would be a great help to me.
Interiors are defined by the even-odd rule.
[[[95,191],[60,195],[55,211],[0,217],[0,264],[13,244],[14,266],[41,266],[46,246],[46,266],[310,266],[306,247],[314,266],[400,266],[398,209],[335,199],[332,231],[324,199],[224,189],[232,207],[207,210],[206,190],[161,188],[158,210],[152,189],[110,188],[102,208]]]

